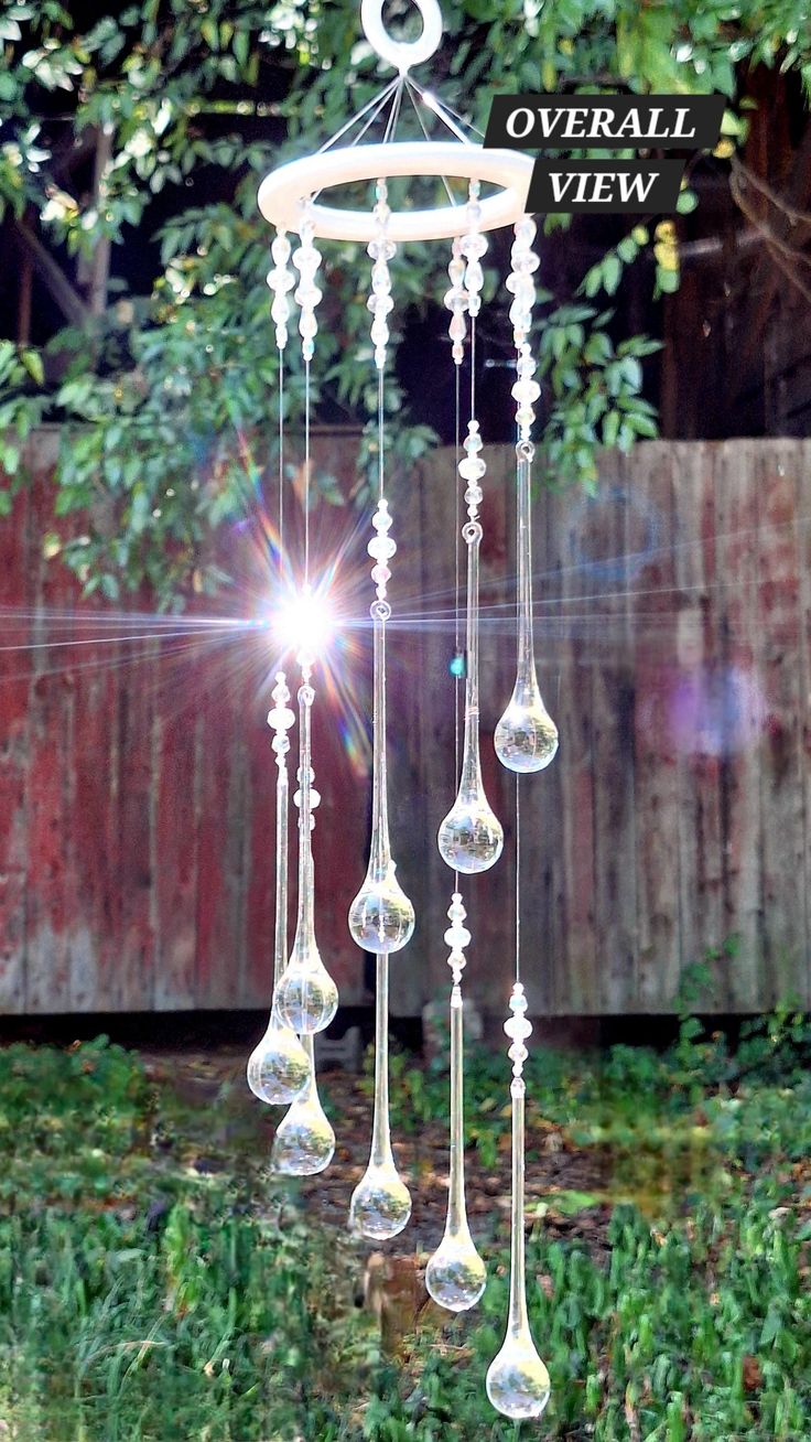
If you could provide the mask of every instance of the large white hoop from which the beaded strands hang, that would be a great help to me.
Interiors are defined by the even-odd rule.
[[[259,211],[282,231],[297,231],[301,211],[311,195],[353,180],[390,180],[392,176],[461,176],[488,180],[501,186],[497,195],[481,200],[483,231],[514,225],[526,215],[532,156],[520,150],[484,150],[452,140],[408,140],[382,146],[341,147],[291,160],[271,170],[259,186]],[[313,205],[314,234],[330,241],[375,238],[376,222],[370,211],[341,211]],[[436,206],[431,211],[392,211],[386,234],[392,241],[444,241],[464,235],[468,228],[465,206]]]

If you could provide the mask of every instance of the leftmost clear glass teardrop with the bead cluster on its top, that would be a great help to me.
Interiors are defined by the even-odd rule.
[[[287,733],[295,721],[288,707],[290,691],[284,672],[278,672],[274,686],[274,709],[268,724],[274,727],[272,747],[277,756],[277,910],[274,937],[274,1001],[265,1035],[248,1058],[248,1086],[259,1102],[272,1106],[288,1105],[298,1096],[310,1076],[307,1053],[298,1037],[285,1027],[277,1004],[277,988],[287,957],[287,881],[288,881],[288,809]]]

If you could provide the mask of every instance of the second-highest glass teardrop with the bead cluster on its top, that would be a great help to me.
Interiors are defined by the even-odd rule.
[[[478,482],[485,466],[478,451],[481,437],[478,424],[470,421],[465,438],[465,459],[460,474],[468,482],[465,500],[470,521],[462,526],[462,538],[468,548],[468,597],[467,597],[467,684],[465,684],[465,731],[462,748],[462,770],[457,799],[439,826],[436,844],[442,861],[454,871],[471,875],[488,871],[504,845],[504,832],[484,793],[481,779],[481,757],[478,750],[478,551],[481,525],[475,518],[481,503]]]

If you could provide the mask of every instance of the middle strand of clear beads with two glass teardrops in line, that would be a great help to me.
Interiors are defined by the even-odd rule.
[[[386,185],[377,182],[375,199],[375,236],[369,242],[372,260],[372,343],[377,369],[377,446],[379,502],[372,525],[375,536],[367,551],[375,562],[372,580],[376,600],[372,603],[375,646],[375,705],[372,718],[372,845],[366,878],[349,913],[351,937],[363,950],[376,955],[375,1001],[375,1110],[369,1164],[350,1201],[350,1229],[377,1242],[398,1236],[411,1217],[411,1195],[400,1178],[392,1152],[389,1123],[389,956],[399,952],[413,932],[413,907],[396,878],[389,841],[389,796],[386,779],[386,622],[392,614],[387,587],[392,578],[389,561],[396,544],[389,534],[392,516],[383,495],[383,369],[389,343],[389,314],[392,311],[392,278],[389,261],[395,245],[387,238],[389,205]]]

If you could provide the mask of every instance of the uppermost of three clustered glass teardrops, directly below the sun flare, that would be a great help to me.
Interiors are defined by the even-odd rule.
[[[277,986],[277,1007],[282,1022],[300,1035],[324,1031],[339,1007],[337,986],[327,972],[315,943],[314,867],[313,867],[313,769],[310,764],[310,711],[313,688],[298,689],[300,724],[300,812],[298,812],[298,914],[290,962]]]

